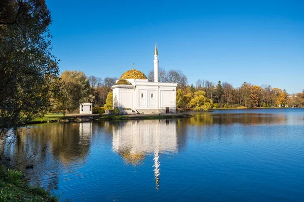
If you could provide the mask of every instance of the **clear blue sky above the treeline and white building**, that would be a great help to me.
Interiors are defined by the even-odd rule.
[[[60,70],[99,77],[132,68],[197,79],[304,89],[304,1],[46,0]]]

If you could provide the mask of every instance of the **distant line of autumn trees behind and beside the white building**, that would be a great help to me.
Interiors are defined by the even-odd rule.
[[[80,102],[92,102],[96,107],[106,104],[106,98],[115,85],[116,77],[86,76],[82,71],[64,71],[60,75],[64,82],[61,99],[54,105],[54,110],[77,110]],[[150,70],[148,80],[154,79],[154,71]],[[257,108],[304,106],[304,91],[288,95],[285,90],[269,85],[256,86],[244,82],[241,87],[234,88],[227,82],[214,84],[208,80],[198,79],[196,84],[189,85],[187,76],[180,70],[166,71],[159,69],[160,82],[177,83],[176,107],[208,110],[210,108]],[[60,102],[61,100],[61,102]],[[108,99],[109,101],[110,99]],[[107,103],[111,105],[112,103]],[[109,106],[107,106],[109,107]]]

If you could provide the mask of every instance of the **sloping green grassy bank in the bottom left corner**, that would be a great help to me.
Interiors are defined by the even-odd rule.
[[[33,187],[23,181],[19,171],[0,167],[0,202],[16,201],[59,201],[51,196],[49,191],[40,187]]]

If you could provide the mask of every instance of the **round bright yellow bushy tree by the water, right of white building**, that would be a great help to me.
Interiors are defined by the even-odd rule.
[[[204,91],[197,91],[194,93],[194,98],[191,99],[190,105],[195,111],[206,111],[212,108],[212,100],[205,97],[205,95],[206,93]]]

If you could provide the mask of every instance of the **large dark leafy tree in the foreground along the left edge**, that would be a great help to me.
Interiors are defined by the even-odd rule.
[[[59,90],[44,0],[0,2],[0,128],[44,115]]]

